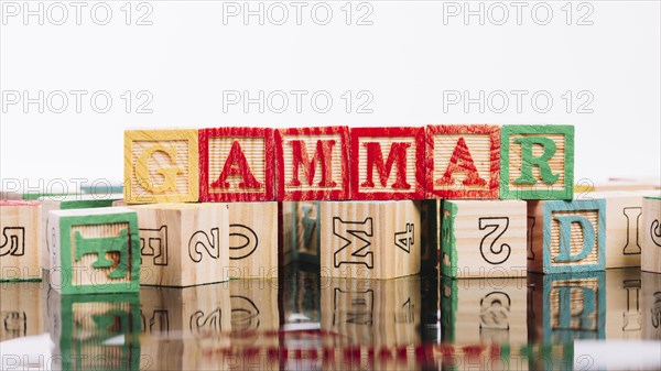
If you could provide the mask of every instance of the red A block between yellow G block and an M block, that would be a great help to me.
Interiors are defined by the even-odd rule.
[[[273,129],[199,130],[199,200],[273,200]]]

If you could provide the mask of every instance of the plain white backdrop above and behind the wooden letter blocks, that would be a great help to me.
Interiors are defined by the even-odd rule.
[[[32,1],[37,15],[26,19],[23,1],[1,3],[6,188],[9,179],[24,188],[40,179],[44,186],[77,178],[120,183],[124,129],[220,126],[570,123],[576,126],[576,181],[660,176],[659,1],[472,2],[472,10],[484,7],[484,24],[479,14],[464,19],[464,2],[261,2],[263,25],[259,15],[230,17],[243,2]],[[277,25],[283,8],[289,18]],[[79,107],[72,90],[87,92]],[[235,90],[252,98],[262,90],[263,113],[258,103],[229,105]],[[291,90],[307,91],[301,112]],[[528,91],[520,107],[512,90]],[[43,113],[37,102],[23,105],[24,92],[37,98],[40,91]],[[106,106],[102,95],[90,102],[95,91],[112,98],[108,112],[95,111]],[[289,96],[289,106],[282,107],[278,91]],[[322,98],[313,105],[315,91]],[[484,91],[484,112],[477,102],[451,105],[454,91],[472,98]],[[508,106],[498,91],[509,97]],[[317,112],[326,92],[333,103]],[[150,97],[142,110],[151,113],[138,113]],[[362,107],[368,112],[359,113],[357,106],[370,97]]]

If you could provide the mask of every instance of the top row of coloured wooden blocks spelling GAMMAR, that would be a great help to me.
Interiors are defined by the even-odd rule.
[[[574,127],[124,132],[124,199],[572,199]]]

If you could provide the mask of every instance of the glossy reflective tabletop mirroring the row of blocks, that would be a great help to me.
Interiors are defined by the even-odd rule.
[[[661,274],[279,280],[62,296],[3,283],[3,369],[661,368]],[[45,334],[45,336],[40,336]]]

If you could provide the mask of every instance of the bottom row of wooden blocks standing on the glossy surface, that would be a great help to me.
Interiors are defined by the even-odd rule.
[[[660,203],[640,195],[443,200],[427,212],[436,216],[436,228],[423,223],[421,205],[413,200],[301,203],[294,226],[278,203],[149,204],[54,210],[42,230],[39,201],[4,201],[2,279],[40,279],[41,268],[63,276],[68,287],[98,284],[101,272],[127,285],[273,277],[279,252],[283,263],[297,253],[285,249],[284,240],[316,244],[308,250],[318,252],[324,276],[391,279],[419,273],[426,257],[423,237],[434,230],[441,271],[448,276],[594,271],[637,265],[640,253],[642,269],[659,272]],[[45,264],[40,255],[47,257]]]

